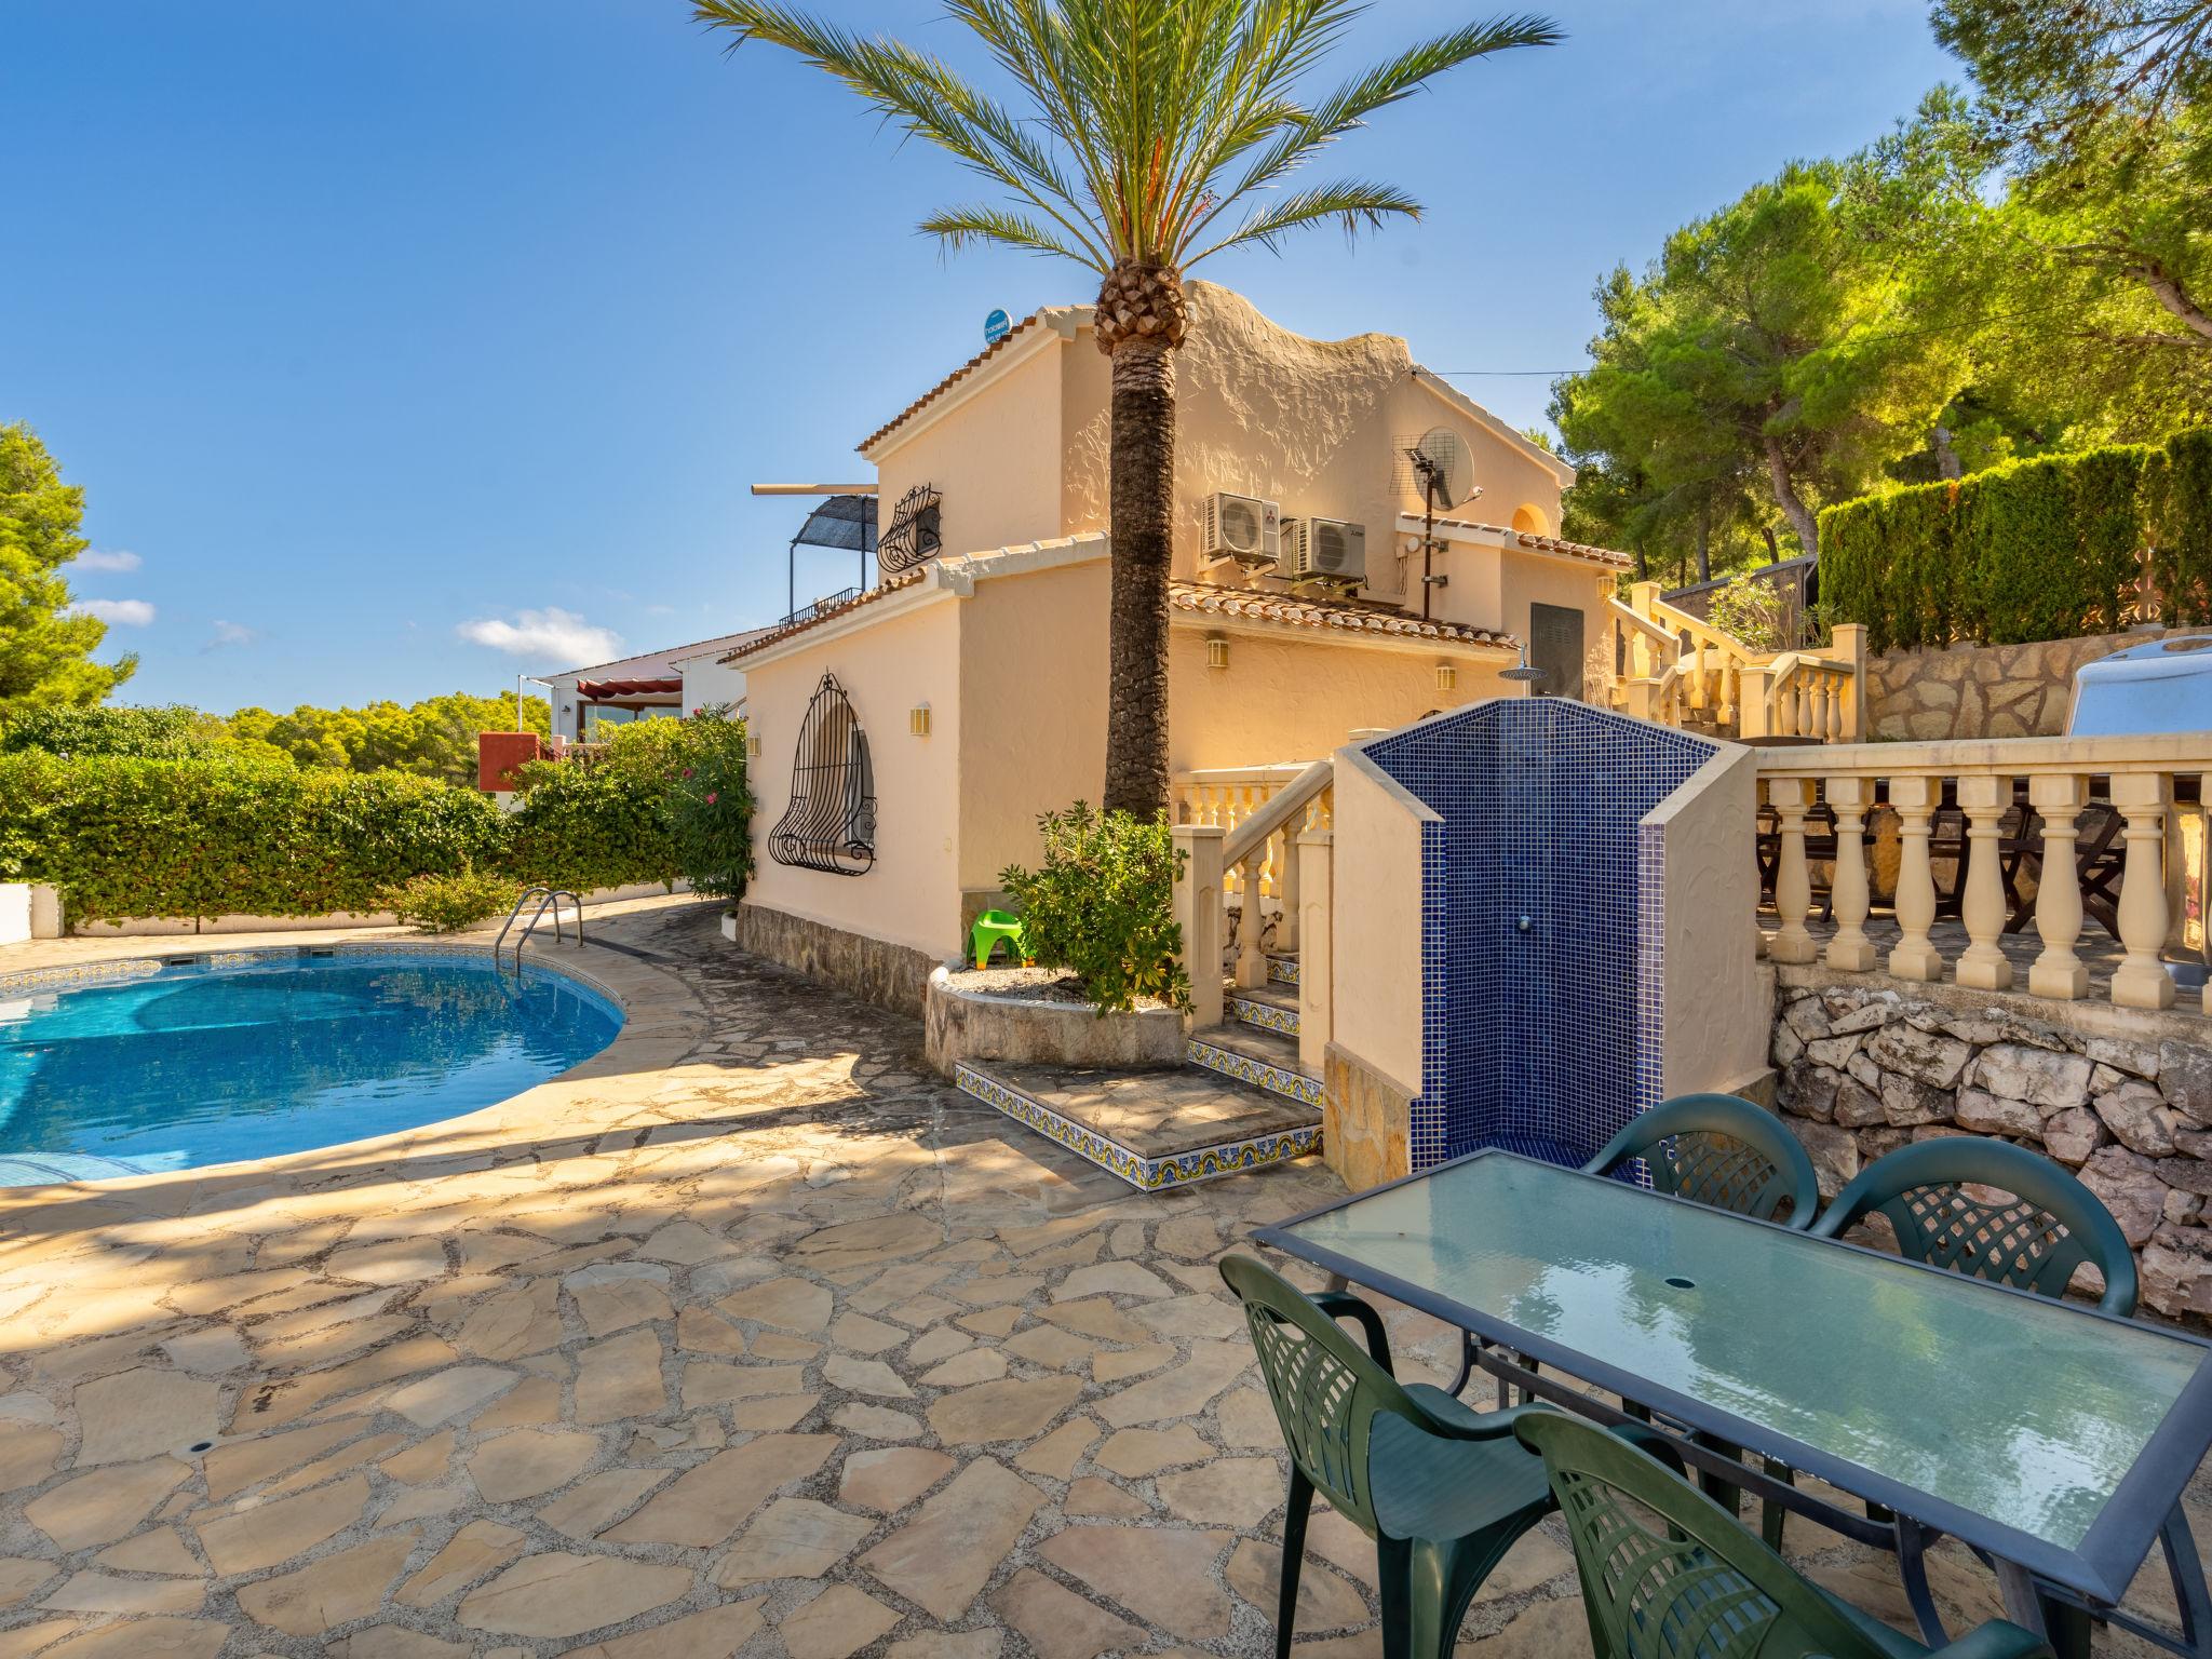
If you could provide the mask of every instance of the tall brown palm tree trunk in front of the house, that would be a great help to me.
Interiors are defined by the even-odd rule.
[[[1175,356],[1164,341],[1113,347],[1106,810],[1168,805],[1168,560],[1175,538]]]

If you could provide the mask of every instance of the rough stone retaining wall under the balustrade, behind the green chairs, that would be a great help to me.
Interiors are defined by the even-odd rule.
[[[2119,1219],[2143,1305],[2212,1314],[2212,1024],[1854,980],[1796,969],[1776,993],[1778,1104],[1823,1197],[1907,1141],[2020,1141]]]

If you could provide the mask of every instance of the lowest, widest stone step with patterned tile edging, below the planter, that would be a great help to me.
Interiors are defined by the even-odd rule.
[[[1197,1066],[1099,1071],[958,1060],[953,1082],[1146,1192],[1321,1150],[1316,1106]]]

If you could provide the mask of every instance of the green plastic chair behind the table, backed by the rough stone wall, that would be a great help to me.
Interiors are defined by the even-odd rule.
[[[1978,1199],[1969,1186],[2011,1197]],[[1902,1256],[2039,1296],[2064,1296],[2075,1267],[2093,1263],[2104,1274],[2097,1305],[2135,1314],[2135,1256],[2112,1212],[2024,1146],[1980,1135],[1900,1146],[1836,1194],[1814,1234],[1834,1239],[1876,1210],[1896,1228]]]

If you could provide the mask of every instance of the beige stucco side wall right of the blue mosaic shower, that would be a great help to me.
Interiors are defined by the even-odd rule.
[[[1644,818],[1666,838],[1666,1095],[1734,1091],[1765,1071],[1772,984],[1750,949],[1756,816],[1759,752],[1723,745]]]

